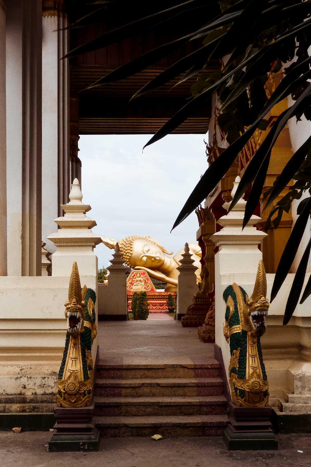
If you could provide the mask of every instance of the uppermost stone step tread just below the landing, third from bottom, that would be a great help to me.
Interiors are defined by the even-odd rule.
[[[140,386],[222,386],[221,378],[97,378],[96,387],[140,387]]]

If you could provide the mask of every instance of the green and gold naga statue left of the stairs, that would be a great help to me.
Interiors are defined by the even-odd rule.
[[[94,290],[81,289],[79,271],[73,263],[68,300],[65,303],[67,334],[62,364],[56,384],[56,402],[60,407],[85,407],[92,401],[93,360],[91,348],[96,337]]]

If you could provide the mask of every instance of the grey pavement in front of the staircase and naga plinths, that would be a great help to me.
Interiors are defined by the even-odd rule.
[[[49,432],[0,432],[4,467],[310,467],[311,435],[278,435],[278,451],[227,451],[222,439],[102,439],[97,453],[48,453]],[[297,451],[303,451],[299,453]]]

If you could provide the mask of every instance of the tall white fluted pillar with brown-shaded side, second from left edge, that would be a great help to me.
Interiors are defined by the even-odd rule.
[[[7,274],[41,276],[41,0],[6,18]]]

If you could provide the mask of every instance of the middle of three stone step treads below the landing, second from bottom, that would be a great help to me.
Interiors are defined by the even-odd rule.
[[[141,396],[141,397],[94,397],[97,406],[114,405],[225,405],[224,396]]]

